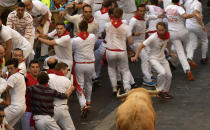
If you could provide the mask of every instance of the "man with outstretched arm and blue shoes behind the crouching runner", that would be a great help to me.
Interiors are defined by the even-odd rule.
[[[131,18],[129,22],[129,28],[133,32],[133,39],[134,44],[130,45],[131,49],[136,52],[138,46],[142,44],[142,42],[145,40],[145,33],[146,33],[146,23],[150,19],[158,19],[160,16],[156,15],[145,15],[146,13],[146,7],[144,4],[141,4],[137,7],[137,13],[133,18]],[[143,72],[143,84],[147,86],[154,86],[155,82],[152,81],[151,77],[151,65],[149,63],[149,53],[150,48],[144,48],[141,51],[141,54],[139,55],[139,58],[141,59],[141,69]]]

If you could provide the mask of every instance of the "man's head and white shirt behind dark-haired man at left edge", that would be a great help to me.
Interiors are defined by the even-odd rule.
[[[20,48],[15,48],[12,52],[12,58],[16,58],[18,59],[18,69],[19,69],[19,73],[23,74],[26,77],[26,63],[23,57],[23,50],[21,50]]]

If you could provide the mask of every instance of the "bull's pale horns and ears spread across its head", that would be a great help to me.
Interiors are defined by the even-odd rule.
[[[117,91],[117,98],[120,98],[120,99],[125,99],[130,93],[134,92],[134,91],[137,91],[139,88],[136,88],[136,89],[133,89],[127,93],[124,93],[124,94],[120,94],[120,89]],[[158,94],[158,90],[147,90],[147,89],[143,89],[143,91],[146,91],[148,92],[148,94],[151,96],[151,97],[156,97],[157,94]],[[141,91],[142,91],[141,90]]]

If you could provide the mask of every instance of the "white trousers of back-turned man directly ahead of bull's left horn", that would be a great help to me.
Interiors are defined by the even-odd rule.
[[[124,89],[130,89],[131,73],[128,66],[127,51],[115,52],[107,50],[106,58],[108,62],[108,74],[112,87],[117,86],[117,66],[118,71],[120,71],[122,75]]]

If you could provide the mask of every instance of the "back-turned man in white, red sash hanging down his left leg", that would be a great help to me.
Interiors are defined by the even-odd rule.
[[[76,78],[74,81],[78,82],[76,85],[77,97],[81,106],[81,117],[85,118],[88,106],[91,104],[92,94],[92,76],[94,73],[94,46],[96,37],[94,34],[87,32],[88,25],[85,20],[79,24],[80,33],[78,37],[71,40],[74,52],[74,74]],[[85,90],[85,92],[84,92]]]

